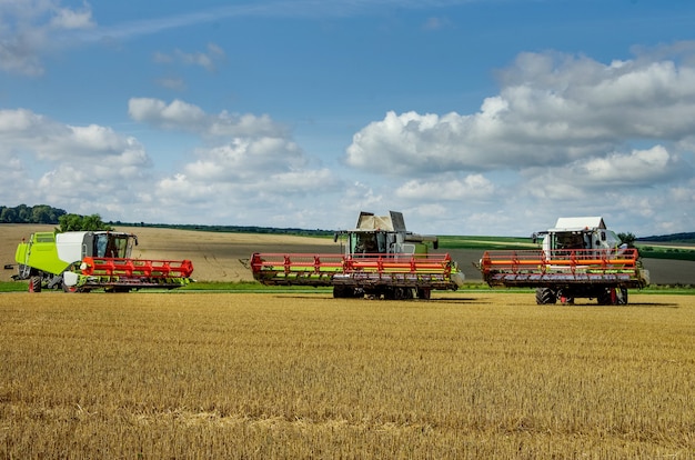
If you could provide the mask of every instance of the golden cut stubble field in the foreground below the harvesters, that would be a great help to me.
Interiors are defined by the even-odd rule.
[[[0,294],[0,458],[694,458],[695,297]]]

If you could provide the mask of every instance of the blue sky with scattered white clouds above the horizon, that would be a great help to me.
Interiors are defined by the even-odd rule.
[[[695,231],[695,3],[0,1],[0,204]]]

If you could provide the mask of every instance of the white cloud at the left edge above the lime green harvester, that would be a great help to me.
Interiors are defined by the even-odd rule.
[[[64,124],[24,109],[0,110],[0,160],[14,189],[0,189],[3,196],[30,203],[50,197],[63,209],[84,213],[125,211],[152,167],[132,137],[97,124]]]

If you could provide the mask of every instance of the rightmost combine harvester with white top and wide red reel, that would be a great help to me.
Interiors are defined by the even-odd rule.
[[[536,288],[536,303],[575,298],[627,304],[627,289],[644,288],[649,272],[637,249],[622,244],[601,217],[560,218],[543,236],[542,249],[486,251],[477,266],[491,287]]]

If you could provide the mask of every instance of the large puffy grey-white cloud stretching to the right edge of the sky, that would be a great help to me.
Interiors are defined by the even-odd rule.
[[[693,136],[695,69],[673,61],[522,53],[500,81],[476,113],[386,113],[354,136],[346,163],[367,169],[379,152],[394,174],[561,166]]]

